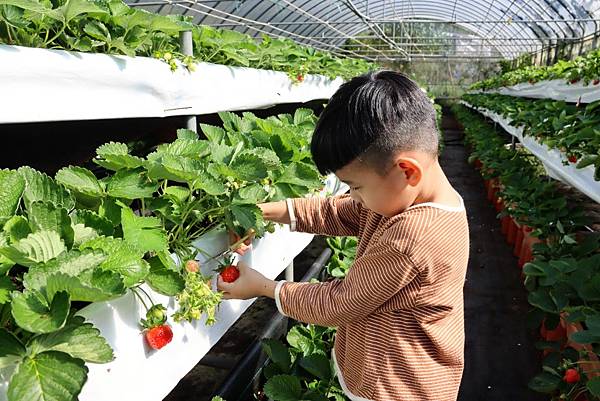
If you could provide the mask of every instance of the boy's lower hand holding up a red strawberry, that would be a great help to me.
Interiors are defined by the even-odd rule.
[[[239,262],[237,268],[240,276],[233,283],[226,283],[221,275],[217,277],[217,289],[223,291],[224,299],[275,297],[275,281],[269,280],[244,262]]]

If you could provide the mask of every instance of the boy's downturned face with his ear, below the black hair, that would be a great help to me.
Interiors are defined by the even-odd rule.
[[[350,186],[350,197],[356,202],[375,213],[392,217],[415,202],[422,173],[418,160],[398,157],[387,171],[378,172],[354,160],[335,175]]]

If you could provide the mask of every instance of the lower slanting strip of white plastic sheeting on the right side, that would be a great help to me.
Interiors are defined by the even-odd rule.
[[[548,146],[539,143],[531,136],[524,136],[523,128],[510,125],[510,120],[489,110],[473,107],[467,102],[461,101],[461,103],[497,122],[506,132],[516,137],[523,146],[542,162],[550,177],[577,188],[600,203],[600,182],[594,179],[594,166],[578,169],[575,164],[569,163],[564,153],[557,149],[548,148]],[[565,163],[567,164],[565,165]]]

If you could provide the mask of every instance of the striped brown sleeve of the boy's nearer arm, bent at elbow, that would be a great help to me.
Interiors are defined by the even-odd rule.
[[[282,314],[301,322],[343,326],[375,312],[418,274],[408,255],[382,243],[356,259],[345,279],[280,282],[275,300]]]

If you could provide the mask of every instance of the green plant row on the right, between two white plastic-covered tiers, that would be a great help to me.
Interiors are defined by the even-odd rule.
[[[572,104],[551,99],[527,99],[499,94],[467,94],[463,99],[510,120],[550,149],[564,154],[564,164],[595,167],[600,181],[600,101]]]

